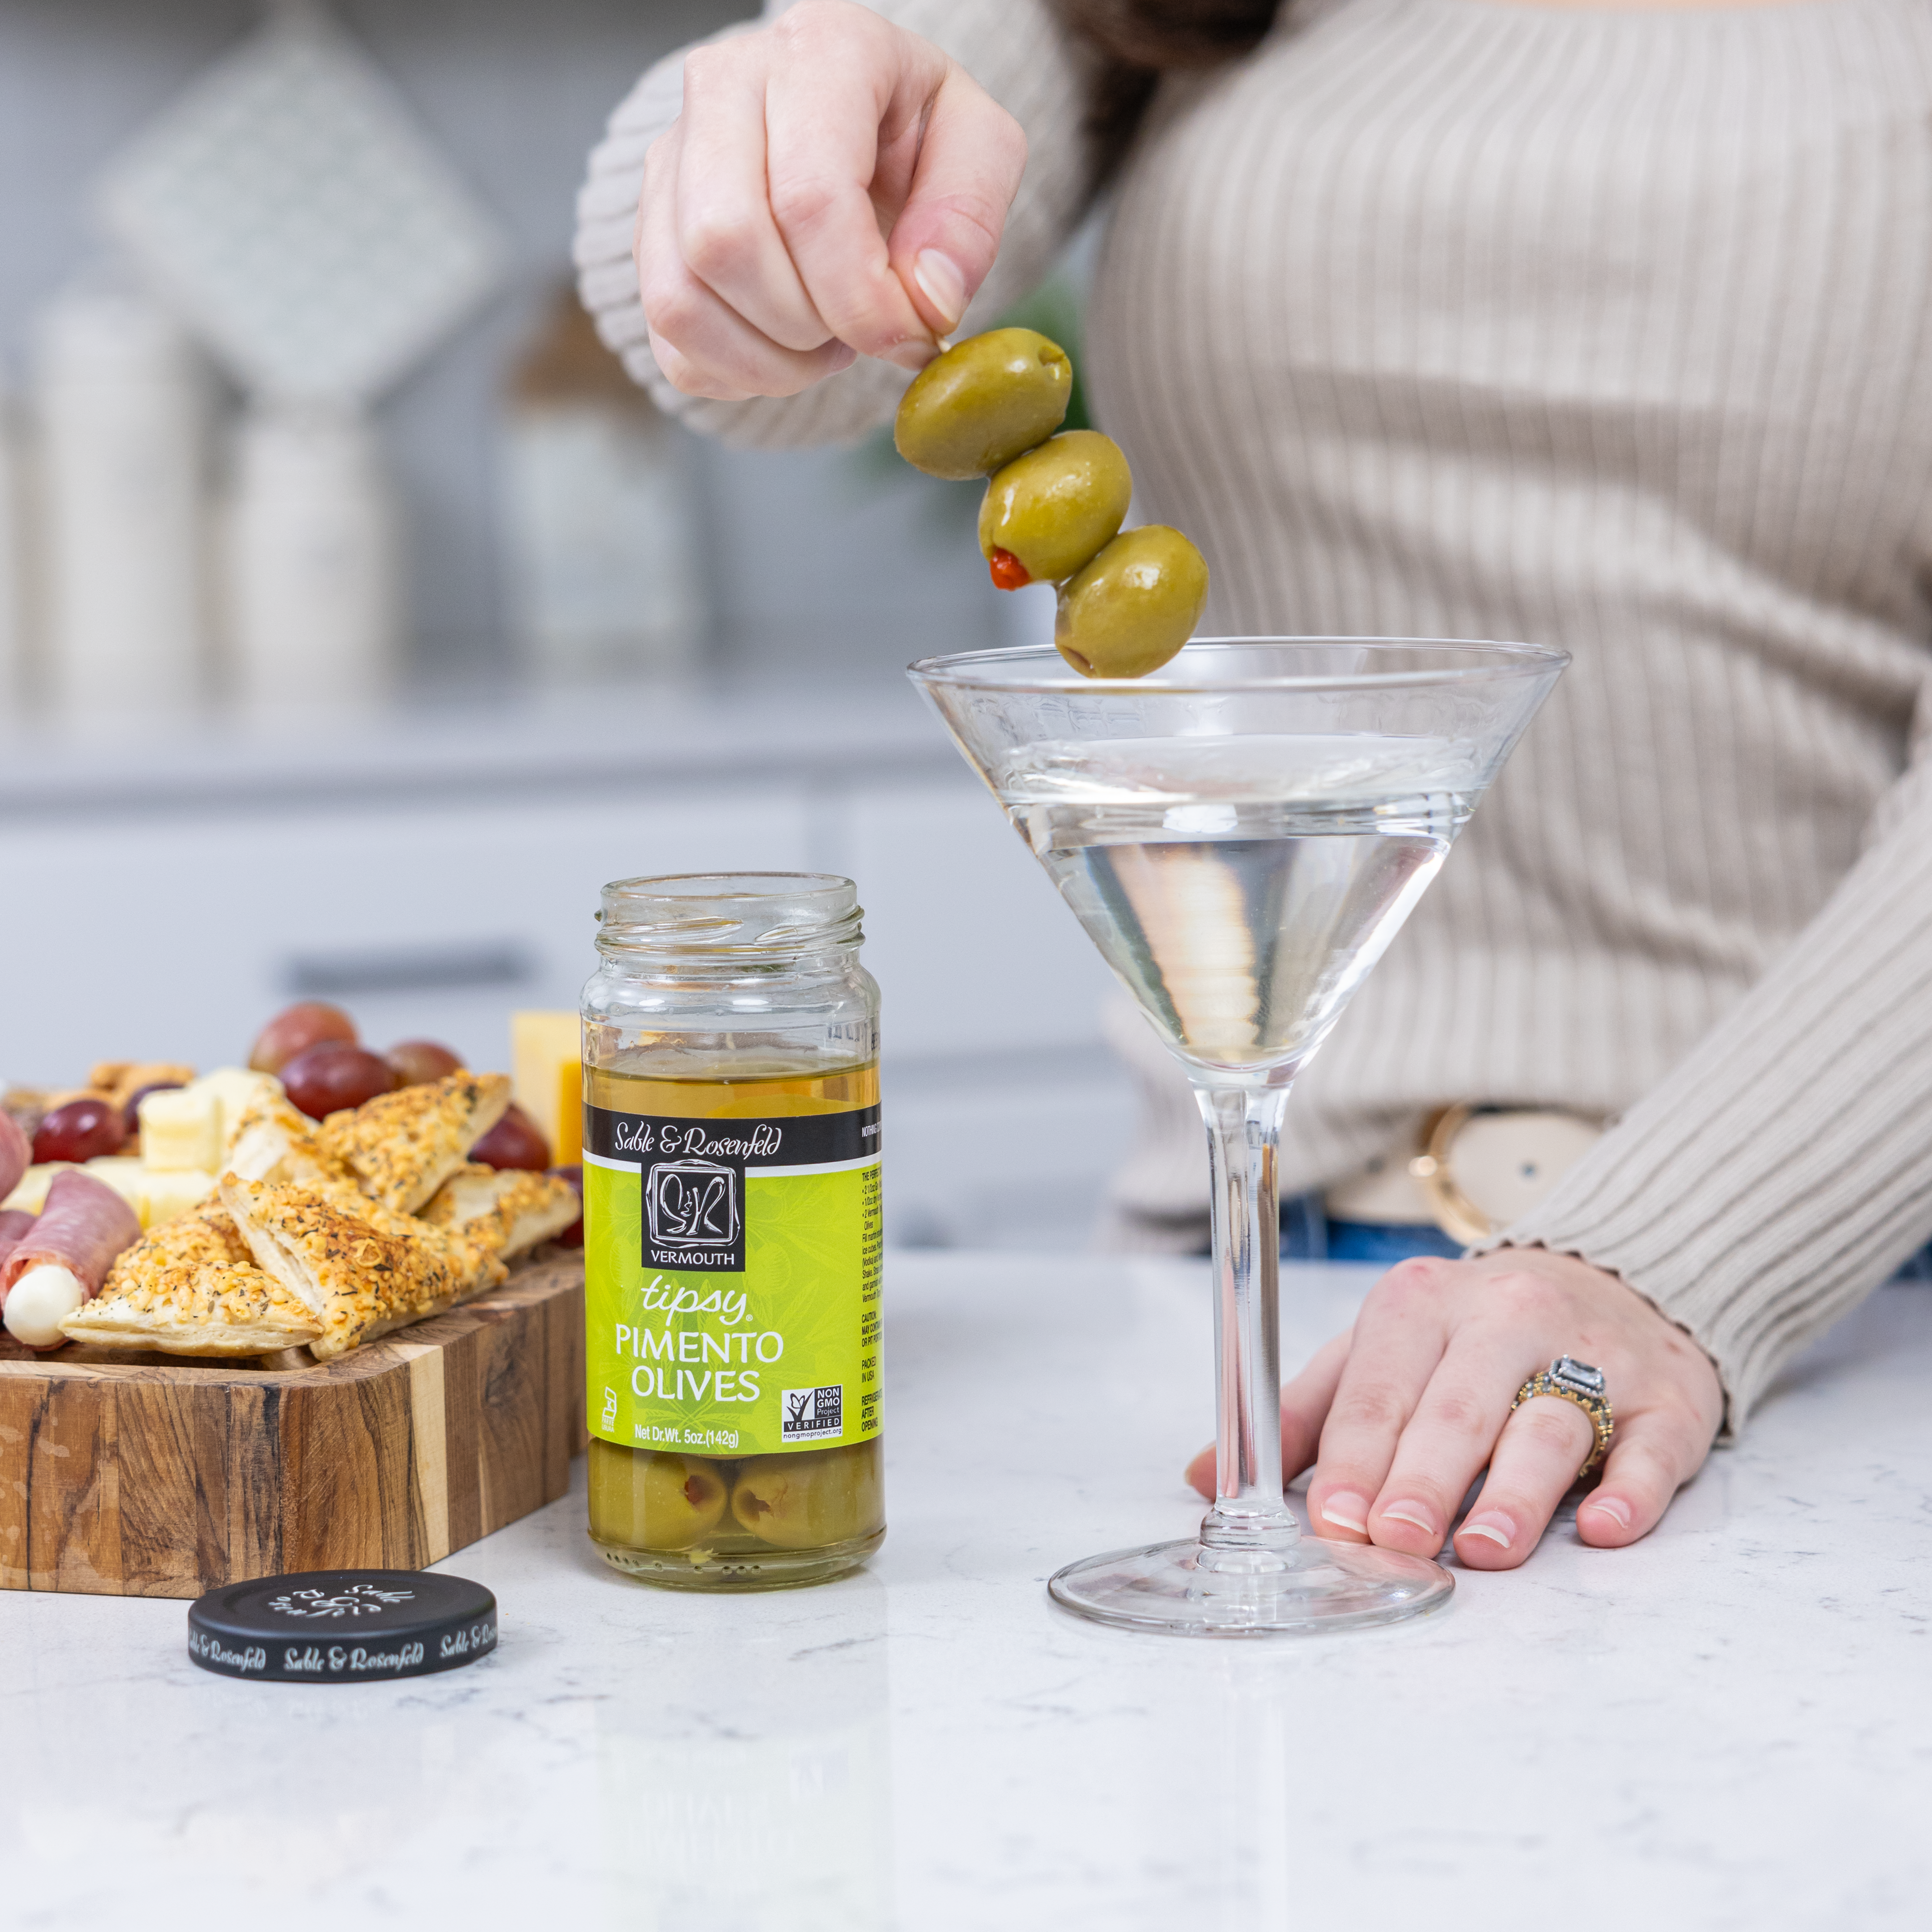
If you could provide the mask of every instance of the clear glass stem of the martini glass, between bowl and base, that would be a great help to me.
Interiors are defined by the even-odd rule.
[[[1285,1086],[1209,1086],[1194,1097],[1213,1169],[1213,1339],[1219,1432],[1202,1565],[1265,1569],[1300,1536],[1281,1495],[1281,1206],[1275,1146]]]

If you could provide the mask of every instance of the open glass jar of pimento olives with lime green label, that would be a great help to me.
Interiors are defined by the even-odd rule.
[[[885,1538],[879,987],[825,873],[603,889],[583,989],[591,1538],[771,1590]]]

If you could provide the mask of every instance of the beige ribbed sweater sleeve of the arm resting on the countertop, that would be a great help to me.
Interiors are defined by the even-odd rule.
[[[1932,1236],[1932,697],[1866,850],[1750,993],[1515,1227],[1621,1275],[1743,1428]]]

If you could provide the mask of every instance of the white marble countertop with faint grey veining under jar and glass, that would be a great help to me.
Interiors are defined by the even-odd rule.
[[[1370,1279],[1289,1271],[1289,1352]],[[205,1675],[176,1602],[0,1598],[8,1922],[1924,1924],[1932,1291],[1832,1335],[1634,1549],[1561,1524],[1439,1615],[1273,1644],[1041,1588],[1198,1515],[1202,1269],[900,1254],[891,1296],[862,1577],[659,1594],[580,1493],[444,1565],[497,1592],[493,1658],[344,1689]]]

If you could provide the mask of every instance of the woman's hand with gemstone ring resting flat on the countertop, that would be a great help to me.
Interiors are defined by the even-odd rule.
[[[1604,1370],[1617,1422],[1577,1534],[1609,1549],[1648,1534],[1710,1453],[1723,1418],[1718,1372],[1615,1275],[1542,1248],[1391,1267],[1354,1327],[1281,1391],[1283,1470],[1316,1464],[1316,1534],[1432,1557],[1488,1468],[1455,1553],[1470,1569],[1513,1569],[1596,1439],[1559,1395],[1509,1410],[1559,1354]],[[1213,1495],[1211,1449],[1188,1480]]]

